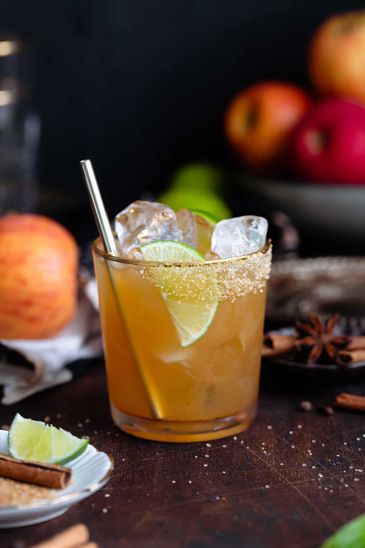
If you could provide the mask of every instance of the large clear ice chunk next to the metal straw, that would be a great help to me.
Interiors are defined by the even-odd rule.
[[[118,249],[122,255],[128,255],[134,247],[159,240],[181,239],[181,230],[177,227],[176,214],[168,206],[157,202],[137,200],[118,213],[115,217]]]

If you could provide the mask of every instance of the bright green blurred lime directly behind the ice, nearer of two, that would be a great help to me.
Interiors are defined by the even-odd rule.
[[[215,192],[194,189],[186,186],[175,186],[163,192],[159,197],[160,203],[178,209],[200,209],[210,213],[218,221],[229,219],[232,214],[223,199]]]

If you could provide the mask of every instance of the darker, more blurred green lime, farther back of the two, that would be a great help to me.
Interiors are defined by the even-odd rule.
[[[172,175],[171,186],[188,186],[200,190],[221,190],[224,175],[215,165],[191,163],[179,168]]]

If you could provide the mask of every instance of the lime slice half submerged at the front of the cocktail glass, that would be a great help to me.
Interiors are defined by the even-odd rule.
[[[179,242],[160,241],[141,246],[144,259],[200,262],[204,256]],[[177,329],[181,346],[198,341],[210,328],[219,304],[219,283],[210,267],[149,267]],[[204,294],[204,300],[201,297]]]

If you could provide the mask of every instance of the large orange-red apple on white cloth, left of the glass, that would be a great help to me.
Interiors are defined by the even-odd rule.
[[[78,247],[41,215],[0,218],[0,339],[47,339],[76,308]]]

